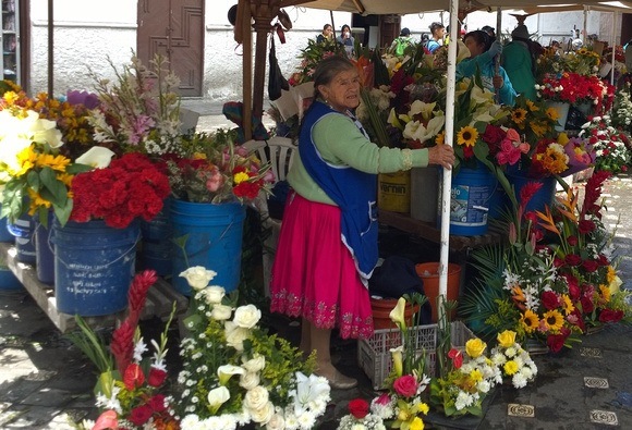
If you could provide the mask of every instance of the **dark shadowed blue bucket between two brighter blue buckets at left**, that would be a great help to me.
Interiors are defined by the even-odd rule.
[[[151,221],[141,221],[141,250],[137,255],[142,269],[151,269],[160,277],[171,274],[171,199],[165,200],[160,213]]]

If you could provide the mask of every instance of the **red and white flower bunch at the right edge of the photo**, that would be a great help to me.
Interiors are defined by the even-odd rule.
[[[631,160],[630,136],[612,126],[609,115],[593,116],[582,125],[580,136],[588,139],[595,150],[595,169],[613,174],[627,172]]]

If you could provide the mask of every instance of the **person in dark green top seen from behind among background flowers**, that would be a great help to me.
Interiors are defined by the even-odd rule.
[[[519,25],[511,32],[511,41],[502,48],[500,64],[511,79],[511,85],[518,94],[530,100],[535,100],[535,74],[537,56],[532,52],[528,29]]]

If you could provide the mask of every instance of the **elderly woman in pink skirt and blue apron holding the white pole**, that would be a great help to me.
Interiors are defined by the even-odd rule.
[[[428,164],[450,169],[449,145],[378,147],[353,115],[361,77],[347,58],[324,59],[314,72],[314,102],[300,128],[299,157],[288,182],[279,245],[270,278],[270,309],[301,317],[301,351],[316,351],[316,373],[335,389],[355,379],[331,364],[331,331],[342,339],[373,335],[368,279],[378,260],[377,174]]]

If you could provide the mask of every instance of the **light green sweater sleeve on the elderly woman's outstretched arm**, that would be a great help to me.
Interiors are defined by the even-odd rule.
[[[427,149],[380,148],[343,115],[323,118],[314,126],[313,138],[325,161],[367,173],[393,173],[428,165]]]

